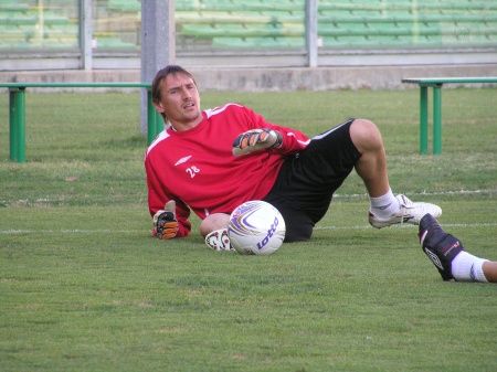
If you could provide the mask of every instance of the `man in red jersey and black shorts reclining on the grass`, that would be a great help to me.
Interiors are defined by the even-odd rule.
[[[419,225],[426,214],[442,214],[435,204],[393,194],[383,139],[370,120],[350,118],[310,139],[240,104],[202,111],[193,75],[177,65],[156,74],[152,99],[168,124],[145,159],[159,238],[188,235],[191,210],[202,220],[207,244],[231,249],[230,213],[243,202],[263,200],[282,213],[285,242],[309,240],[353,169],[370,198],[372,226]]]

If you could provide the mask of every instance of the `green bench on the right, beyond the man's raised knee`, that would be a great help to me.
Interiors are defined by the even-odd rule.
[[[402,83],[420,86],[420,153],[429,153],[427,89],[433,89],[433,155],[442,153],[442,86],[444,84],[497,83],[497,76],[479,77],[410,77]]]

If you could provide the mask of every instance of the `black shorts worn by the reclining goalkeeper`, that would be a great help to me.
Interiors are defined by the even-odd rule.
[[[360,153],[350,139],[348,119],[314,137],[300,152],[288,157],[264,200],[285,219],[285,242],[306,241],[328,211],[335,191],[352,171]]]

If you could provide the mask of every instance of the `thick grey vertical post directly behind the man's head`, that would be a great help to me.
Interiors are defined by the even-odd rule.
[[[175,0],[141,1],[141,83],[176,59]],[[148,130],[148,93],[141,91],[141,132]],[[154,114],[156,116],[156,114]],[[154,135],[154,134],[152,134]],[[149,136],[147,136],[150,138]]]

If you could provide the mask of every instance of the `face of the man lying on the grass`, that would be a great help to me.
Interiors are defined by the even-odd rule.
[[[160,84],[160,102],[155,104],[176,130],[187,130],[202,121],[195,83],[186,74],[170,74]]]

